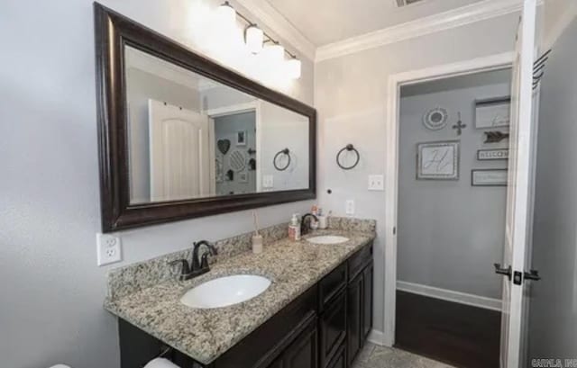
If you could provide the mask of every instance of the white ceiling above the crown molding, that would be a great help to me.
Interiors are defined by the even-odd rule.
[[[266,0],[316,47],[481,0]]]

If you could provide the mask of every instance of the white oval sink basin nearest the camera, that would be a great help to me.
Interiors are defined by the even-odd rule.
[[[270,280],[253,274],[235,274],[201,283],[180,298],[191,308],[221,308],[248,301],[267,290]]]

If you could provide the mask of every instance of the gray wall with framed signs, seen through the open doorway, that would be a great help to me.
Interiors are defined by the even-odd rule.
[[[508,72],[508,73],[507,73]],[[501,280],[490,273],[503,256],[507,188],[471,185],[473,168],[507,168],[507,161],[479,161],[483,144],[474,128],[474,101],[509,94],[510,69],[459,76],[401,88],[398,164],[398,280],[501,298]],[[497,84],[499,82],[499,84]],[[424,94],[418,94],[419,87]],[[406,96],[409,94],[409,96]],[[435,107],[449,113],[442,130],[428,130],[423,115]],[[467,125],[457,136],[457,112]],[[417,180],[417,143],[459,140],[458,181]]]

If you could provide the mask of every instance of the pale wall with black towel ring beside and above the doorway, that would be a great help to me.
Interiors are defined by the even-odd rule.
[[[344,214],[347,199],[358,217],[376,219],[375,326],[383,328],[385,193],[367,191],[367,176],[385,170],[386,99],[390,75],[511,51],[518,14],[508,14],[424,37],[368,49],[316,64],[315,103],[319,112],[319,197],[321,205]],[[344,172],[334,155],[347,143],[361,162]],[[326,190],[331,188],[332,194]]]

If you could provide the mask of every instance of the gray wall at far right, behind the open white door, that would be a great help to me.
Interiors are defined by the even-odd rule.
[[[529,357],[577,352],[577,20],[554,44],[541,85]]]

